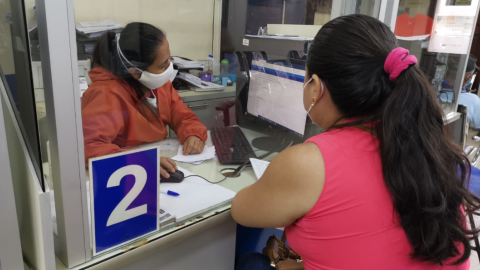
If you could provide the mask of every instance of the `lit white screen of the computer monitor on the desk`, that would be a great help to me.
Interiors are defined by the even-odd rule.
[[[247,112],[299,136],[305,134],[305,66],[289,60],[252,60]]]

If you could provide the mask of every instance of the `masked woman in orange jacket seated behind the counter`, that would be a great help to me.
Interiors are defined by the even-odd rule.
[[[160,29],[130,23],[121,34],[105,34],[97,42],[92,65],[92,84],[82,98],[87,165],[93,157],[163,140],[167,125],[178,135],[185,155],[203,151],[207,129],[172,86],[176,72]],[[169,158],[161,158],[160,166],[165,177],[165,169],[177,169]]]

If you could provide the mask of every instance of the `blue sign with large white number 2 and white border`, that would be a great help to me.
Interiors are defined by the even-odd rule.
[[[157,147],[90,159],[89,165],[94,255],[158,230]]]

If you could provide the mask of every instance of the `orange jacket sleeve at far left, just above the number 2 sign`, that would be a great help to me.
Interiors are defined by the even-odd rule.
[[[86,166],[90,158],[127,151],[112,143],[124,129],[120,101],[101,89],[92,90],[82,98]]]

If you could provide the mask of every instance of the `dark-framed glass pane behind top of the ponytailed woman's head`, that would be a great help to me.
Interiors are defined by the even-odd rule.
[[[222,52],[234,47],[237,51],[291,58],[299,54],[304,58],[305,43],[313,39],[323,24],[348,14],[378,18],[381,3],[380,0],[227,1],[228,10],[224,8],[223,18],[228,21],[223,23],[226,36],[222,36]]]

